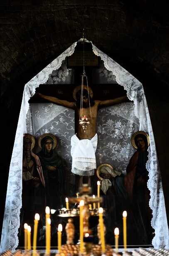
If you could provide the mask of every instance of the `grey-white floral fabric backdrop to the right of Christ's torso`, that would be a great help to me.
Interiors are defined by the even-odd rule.
[[[139,130],[132,102],[101,108],[97,118],[97,164],[110,163],[116,170],[125,172],[135,152],[131,145],[132,134]]]

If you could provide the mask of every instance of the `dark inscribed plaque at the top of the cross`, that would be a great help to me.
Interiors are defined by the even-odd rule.
[[[99,60],[93,52],[84,53],[85,66],[98,66]],[[68,67],[83,66],[83,52],[74,52],[68,57]]]

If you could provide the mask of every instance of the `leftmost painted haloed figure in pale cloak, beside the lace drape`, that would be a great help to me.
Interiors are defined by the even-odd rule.
[[[45,207],[45,180],[39,157],[32,152],[35,145],[34,136],[23,135],[22,162],[22,209],[20,214],[19,243],[23,246],[23,225],[34,224],[34,215],[39,213],[39,227],[42,226],[42,215]]]

